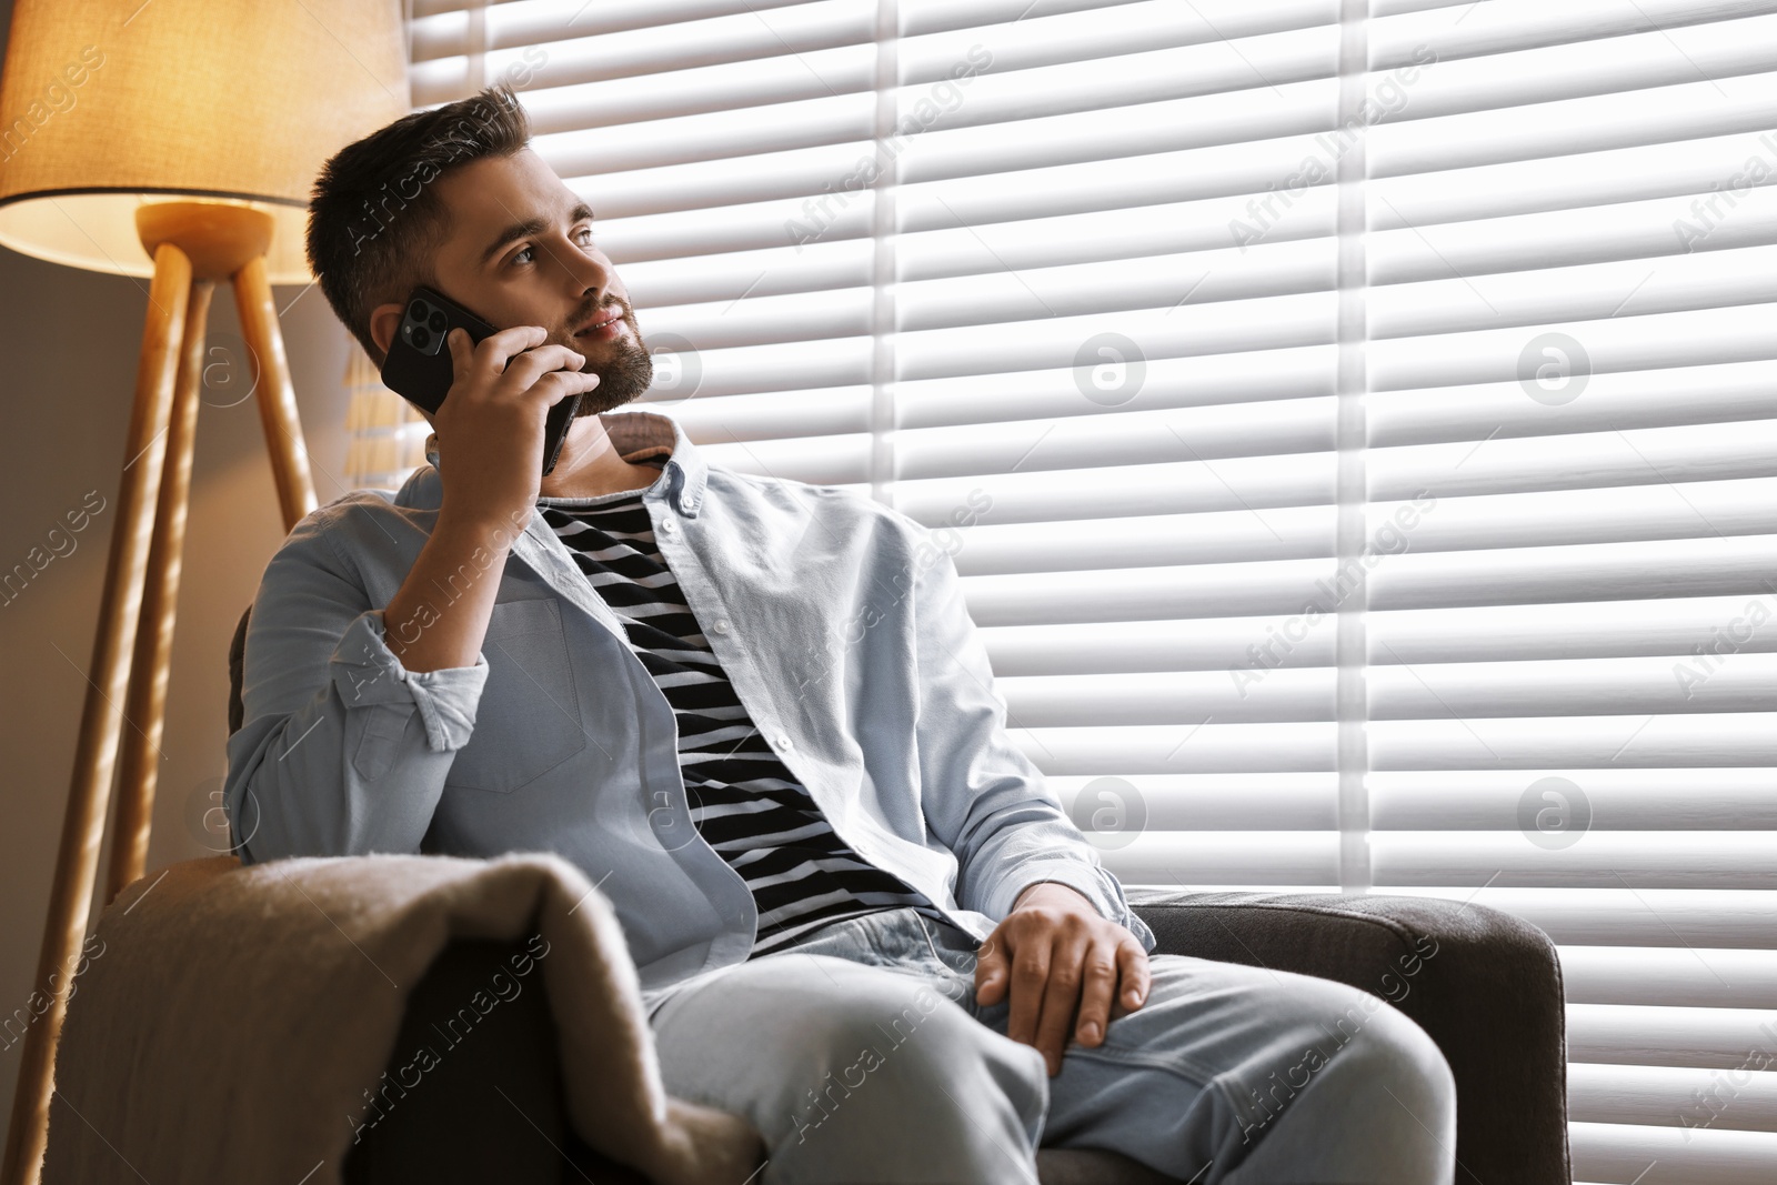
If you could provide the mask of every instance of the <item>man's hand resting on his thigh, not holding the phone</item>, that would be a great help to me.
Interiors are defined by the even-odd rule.
[[[1084,1046],[1100,1045],[1112,1020],[1146,1002],[1148,952],[1079,892],[1038,881],[1018,894],[976,959],[977,1004],[999,1004],[1008,990],[1006,1036],[1034,1045],[1054,1078],[1070,1030]]]

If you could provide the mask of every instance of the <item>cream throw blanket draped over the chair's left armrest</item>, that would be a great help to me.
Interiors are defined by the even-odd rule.
[[[215,856],[135,881],[75,979],[43,1181],[338,1185],[345,1117],[444,945],[537,933],[524,990],[549,995],[581,1139],[657,1185],[746,1181],[759,1135],[665,1093],[617,917],[546,853]]]

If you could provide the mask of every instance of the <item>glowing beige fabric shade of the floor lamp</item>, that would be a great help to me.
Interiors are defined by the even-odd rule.
[[[219,199],[270,213],[270,282],[306,284],[322,163],[407,110],[400,0],[18,0],[0,243],[146,277],[137,208]]]

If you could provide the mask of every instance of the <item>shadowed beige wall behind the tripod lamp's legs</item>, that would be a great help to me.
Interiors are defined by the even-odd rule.
[[[9,7],[0,4],[0,28]],[[327,503],[345,492],[336,478],[345,473],[347,334],[320,288],[274,295],[288,306],[284,343],[315,494]],[[146,307],[147,281],[0,247],[0,570],[46,545],[89,490],[105,499],[75,549],[0,604],[0,1016],[27,1004],[43,942]],[[227,643],[284,537],[254,402],[227,405],[236,396],[226,366],[238,371],[243,352],[227,288],[217,290],[210,345],[222,368],[210,371],[197,423],[149,869],[213,855],[194,835],[188,807],[226,771]],[[0,1048],[0,1116],[11,1114],[21,1048]]]

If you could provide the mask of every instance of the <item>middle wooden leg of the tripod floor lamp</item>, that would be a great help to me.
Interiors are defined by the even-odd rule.
[[[185,343],[179,348],[179,378],[172,393],[167,426],[167,462],[155,513],[155,542],[147,551],[147,581],[142,588],[142,620],[135,634],[130,668],[130,698],[124,718],[135,723],[123,734],[123,776],[117,782],[117,817],[112,824],[110,872],[105,904],[147,865],[147,833],[155,821],[155,789],[160,782],[160,739],[167,721],[167,677],[172,670],[172,624],[179,604],[179,570],[185,554],[185,517],[192,496],[192,453],[197,442],[197,389],[204,373],[204,332],[215,284],[197,281],[185,311]]]

